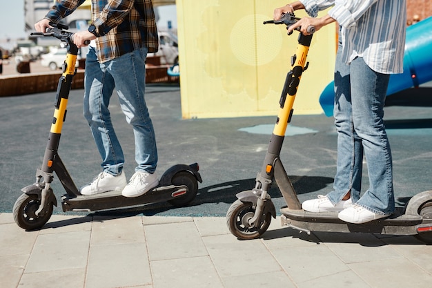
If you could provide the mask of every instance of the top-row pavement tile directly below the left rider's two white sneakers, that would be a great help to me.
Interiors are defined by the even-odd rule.
[[[141,217],[95,216],[92,226],[91,245],[126,244],[145,242]]]

